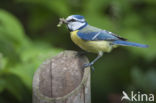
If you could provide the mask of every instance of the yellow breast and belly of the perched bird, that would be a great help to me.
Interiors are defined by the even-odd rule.
[[[77,32],[73,31],[70,33],[72,41],[78,45],[81,49],[92,52],[92,53],[98,53],[99,51],[103,52],[110,52],[112,49],[112,46],[110,45],[110,42],[108,41],[86,41],[82,40],[77,36]]]

